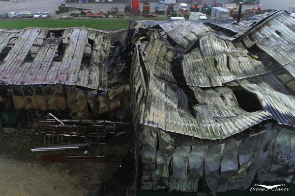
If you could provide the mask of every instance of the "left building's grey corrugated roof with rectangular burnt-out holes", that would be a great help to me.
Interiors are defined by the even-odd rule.
[[[65,84],[108,90],[106,64],[110,47],[116,41],[124,44],[126,31],[97,31],[88,28],[60,30],[63,30],[62,38],[68,38],[61,61],[53,60],[58,44],[42,44],[31,62],[24,61],[30,48],[37,39],[45,39],[50,29],[27,28],[20,31],[13,48],[0,62],[1,82],[7,85]],[[88,39],[94,41],[94,46],[90,64],[85,66],[82,57]]]

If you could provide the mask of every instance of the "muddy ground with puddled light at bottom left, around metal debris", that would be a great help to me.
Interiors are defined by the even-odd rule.
[[[116,162],[63,162],[40,165],[43,155],[60,153],[31,152],[33,147],[44,146],[43,137],[28,129],[3,128],[0,130],[0,196],[118,196],[125,193],[128,173],[122,164],[130,148],[129,135],[107,139],[107,146],[91,146],[91,155],[115,154]],[[77,141],[75,141],[77,142]],[[85,150],[66,152],[82,153]],[[64,151],[63,151],[64,152]],[[126,160],[126,159],[124,159]],[[130,164],[129,164],[130,165]],[[122,172],[123,170],[123,172]],[[127,174],[126,174],[127,173]]]

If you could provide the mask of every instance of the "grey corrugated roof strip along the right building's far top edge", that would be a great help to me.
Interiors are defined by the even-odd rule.
[[[251,17],[241,18],[240,23],[236,23],[236,19],[223,21],[137,21],[138,23],[148,25],[150,27],[161,27],[180,49],[185,50],[191,47],[195,41],[204,34],[215,34],[226,40],[237,40],[245,33],[250,31],[256,25],[263,23],[271,16],[275,16],[282,11],[274,13],[266,12]],[[210,26],[212,28],[210,28]],[[215,30],[216,31],[215,31]],[[232,34],[223,33],[223,30],[231,31]],[[220,33],[221,31],[222,33]]]

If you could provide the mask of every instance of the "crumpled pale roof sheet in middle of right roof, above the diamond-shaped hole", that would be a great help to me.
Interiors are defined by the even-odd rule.
[[[221,86],[269,72],[261,61],[248,55],[242,43],[210,34],[199,39],[199,48],[183,56],[182,70],[186,84],[199,87]]]

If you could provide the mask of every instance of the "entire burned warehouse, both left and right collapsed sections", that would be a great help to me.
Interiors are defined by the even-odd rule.
[[[2,126],[49,113],[130,123],[130,195],[295,183],[294,78],[295,18],[282,10],[0,30]]]

